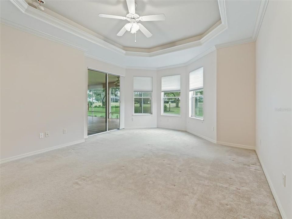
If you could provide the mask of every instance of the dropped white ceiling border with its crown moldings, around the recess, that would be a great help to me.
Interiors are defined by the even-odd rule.
[[[200,40],[184,44],[176,42],[172,47],[161,47],[159,50],[141,48],[128,50],[127,47],[109,42],[109,39],[49,9],[47,12],[50,13],[44,13],[29,7],[24,0],[1,0],[0,10],[1,23],[82,50],[87,57],[122,68],[164,69],[186,66],[214,51],[215,47],[256,40],[268,1],[218,0],[217,4],[221,17],[217,27],[203,34]],[[182,26],[185,29],[189,28]]]

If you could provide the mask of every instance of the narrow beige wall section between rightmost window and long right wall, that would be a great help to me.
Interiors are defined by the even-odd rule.
[[[217,142],[255,147],[255,43],[217,50]]]

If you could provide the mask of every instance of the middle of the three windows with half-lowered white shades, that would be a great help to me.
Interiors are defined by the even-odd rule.
[[[180,75],[161,78],[162,114],[180,115]]]

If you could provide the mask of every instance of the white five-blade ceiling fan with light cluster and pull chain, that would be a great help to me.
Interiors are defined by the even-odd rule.
[[[137,22],[165,20],[164,14],[139,16],[135,12],[135,6],[136,6],[135,0],[126,0],[126,1],[128,5],[128,10],[129,10],[129,13],[126,15],[126,17],[117,16],[117,15],[108,15],[108,14],[99,14],[99,17],[114,18],[114,19],[129,21],[129,23],[123,26],[123,28],[120,30],[117,36],[123,36],[123,34],[126,31],[130,31],[131,33],[137,33],[138,30],[141,30],[141,32],[144,33],[146,37],[151,37],[152,33],[150,33],[141,23],[137,23]]]

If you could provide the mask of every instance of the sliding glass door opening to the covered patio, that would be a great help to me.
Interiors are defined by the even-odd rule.
[[[88,70],[88,135],[120,128],[120,77]]]

